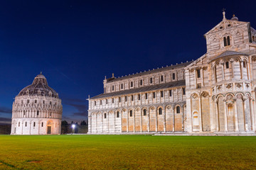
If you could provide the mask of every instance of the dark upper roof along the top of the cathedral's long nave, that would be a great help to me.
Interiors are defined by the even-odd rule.
[[[193,61],[191,61],[191,62],[193,62]],[[186,67],[188,64],[191,64],[191,62],[184,62],[184,63],[181,63],[181,64],[171,65],[169,67],[163,67],[163,68],[159,68],[159,69],[152,69],[152,70],[147,71],[147,72],[132,74],[132,75],[129,75],[129,76],[126,76],[126,77],[119,77],[119,78],[115,78],[115,79],[110,78],[110,80],[107,79],[107,83],[114,82],[114,81],[120,81],[120,80],[124,80],[124,79],[131,79],[131,78],[134,78],[134,77],[144,76],[146,74],[154,74],[154,73],[157,73],[157,72],[165,72],[165,71],[168,71],[168,70],[171,70],[171,69],[178,69],[178,68]]]

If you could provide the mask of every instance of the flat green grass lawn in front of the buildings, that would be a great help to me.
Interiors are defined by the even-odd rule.
[[[256,137],[0,135],[0,169],[256,169]]]

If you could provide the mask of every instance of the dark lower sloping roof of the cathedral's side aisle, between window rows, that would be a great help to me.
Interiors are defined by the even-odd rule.
[[[167,89],[167,88],[171,88],[171,87],[185,86],[185,85],[186,85],[185,80],[173,81],[173,82],[169,82],[169,83],[165,83],[165,84],[157,84],[157,85],[153,85],[153,86],[144,86],[144,87],[124,90],[124,91],[117,91],[117,92],[113,92],[113,93],[100,94],[100,95],[94,96],[90,99],[107,98],[107,97],[121,96],[121,95],[126,95],[126,94],[136,94],[136,93],[139,93],[139,92],[154,91],[154,90],[159,90],[159,89]]]

